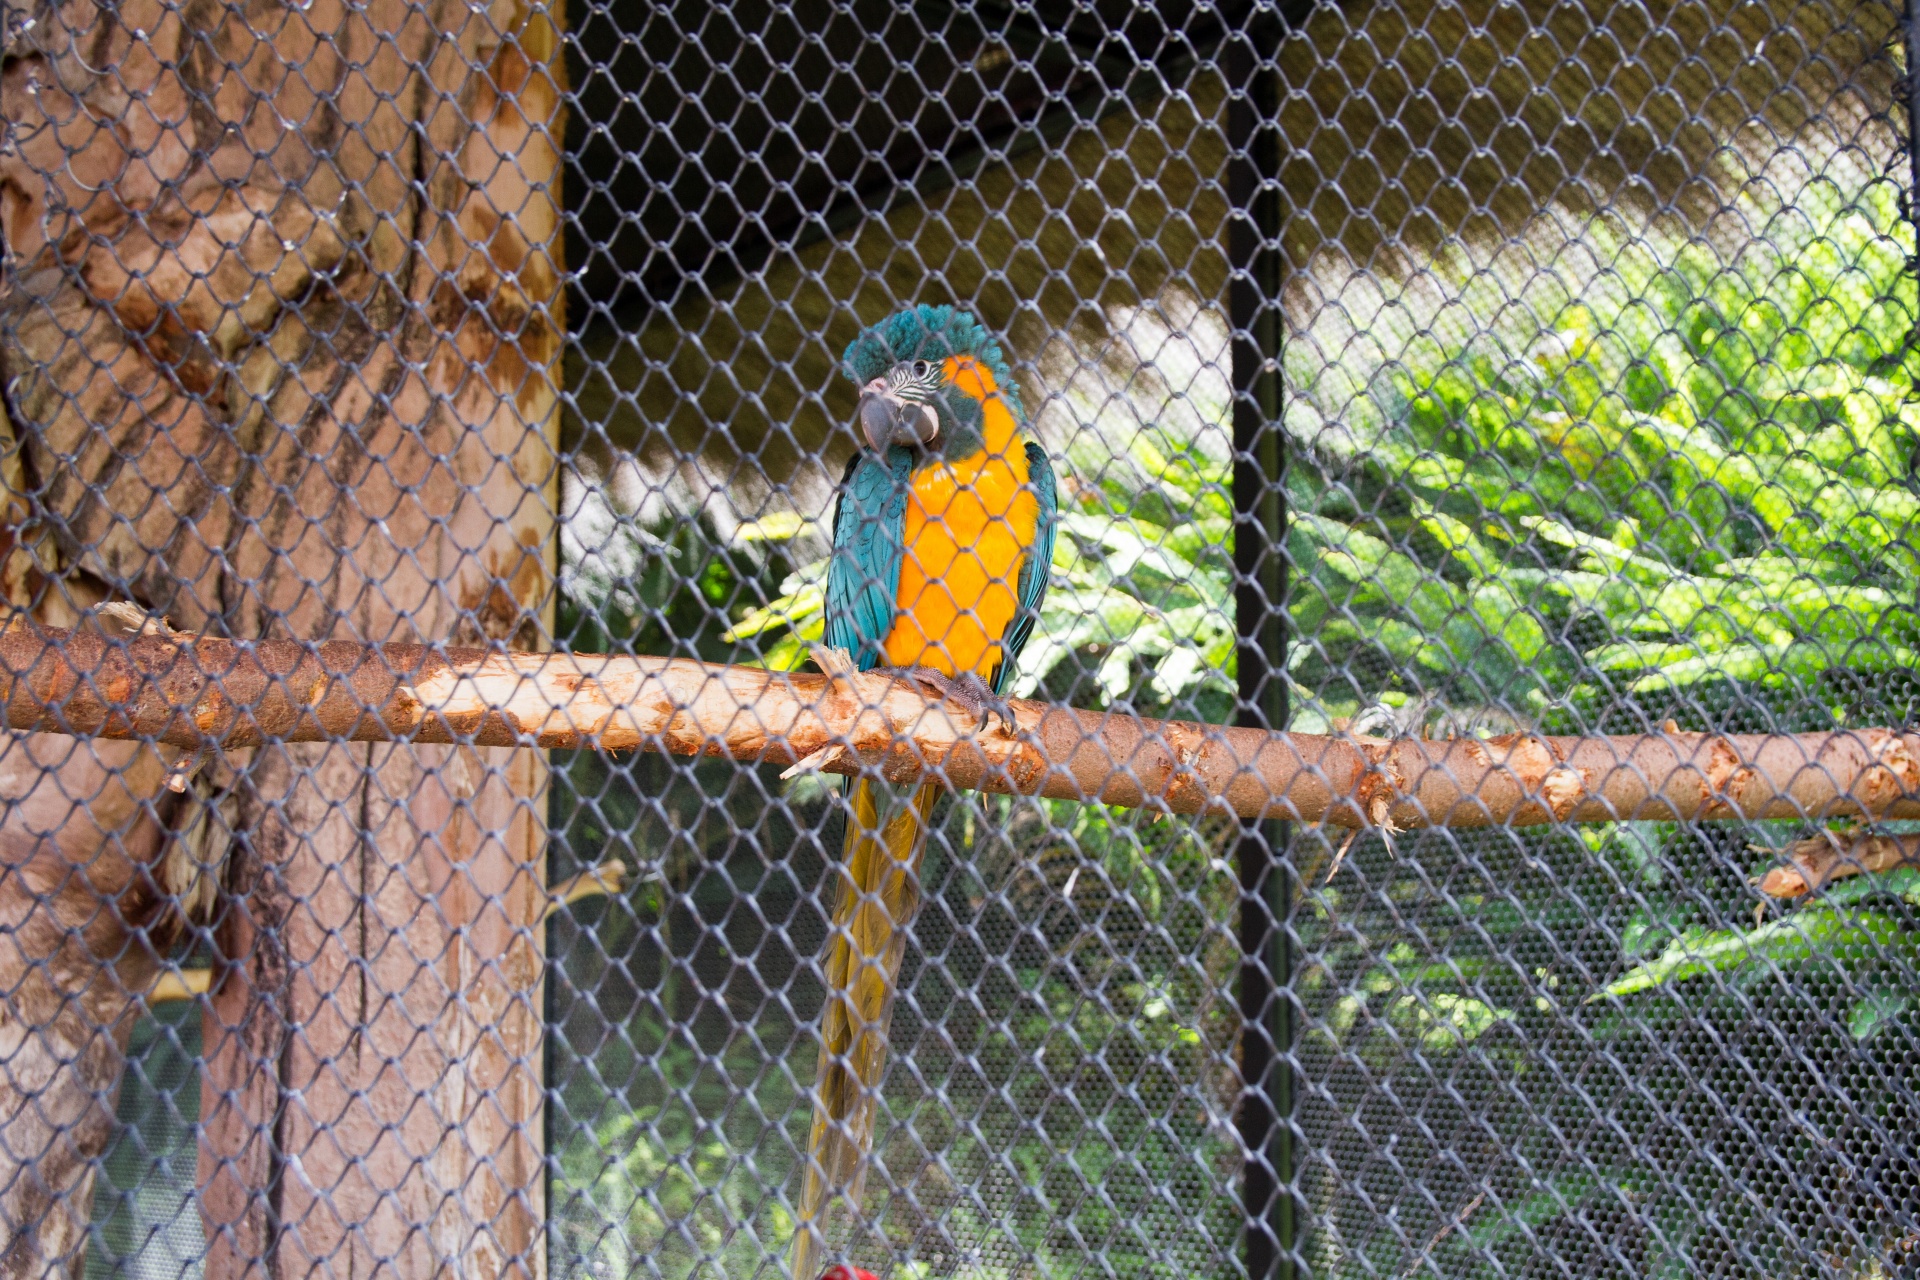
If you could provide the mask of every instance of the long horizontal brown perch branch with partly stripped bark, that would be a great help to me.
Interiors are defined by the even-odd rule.
[[[1920,735],[1889,729],[1386,741],[1014,702],[1018,733],[975,733],[877,674],[27,626],[0,693],[13,729],[81,737],[666,750],[1342,827],[1920,816]]]

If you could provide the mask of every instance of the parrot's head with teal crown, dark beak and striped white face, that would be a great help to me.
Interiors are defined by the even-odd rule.
[[[879,455],[899,445],[948,459],[977,453],[985,397],[1021,416],[1000,344],[958,307],[900,311],[854,338],[843,365],[860,388],[860,434]]]

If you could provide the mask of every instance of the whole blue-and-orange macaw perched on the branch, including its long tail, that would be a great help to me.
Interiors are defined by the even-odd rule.
[[[860,334],[854,453],[833,514],[826,643],[895,668],[985,722],[1046,595],[1056,491],[1025,439],[1000,344],[964,311],[914,307]],[[874,1142],[887,1021],[920,906],[920,856],[941,785],[849,794],[826,954],[820,1077],[793,1276],[810,1280],[833,1197],[858,1207]]]

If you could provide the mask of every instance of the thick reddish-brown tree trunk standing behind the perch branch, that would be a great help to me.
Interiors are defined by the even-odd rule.
[[[538,641],[559,12],[4,17],[15,606]],[[538,756],[269,747],[177,794],[171,750],[0,758],[0,1274],[79,1274],[131,992],[194,929],[207,1276],[543,1274]]]

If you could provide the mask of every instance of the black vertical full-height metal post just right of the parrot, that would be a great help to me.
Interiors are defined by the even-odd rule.
[[[1284,438],[1281,430],[1281,23],[1252,8],[1227,36],[1233,263],[1233,507],[1238,723],[1286,725]],[[1294,1219],[1292,890],[1286,825],[1240,833],[1240,1140],[1248,1280],[1298,1272]]]

